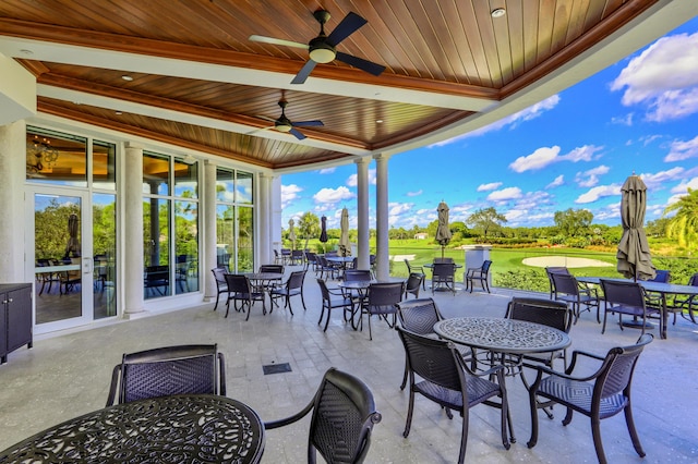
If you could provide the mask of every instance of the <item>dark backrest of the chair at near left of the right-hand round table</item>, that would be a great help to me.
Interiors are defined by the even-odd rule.
[[[429,338],[396,327],[409,369],[432,383],[460,391],[467,404],[465,373],[469,373],[460,353],[452,342]]]

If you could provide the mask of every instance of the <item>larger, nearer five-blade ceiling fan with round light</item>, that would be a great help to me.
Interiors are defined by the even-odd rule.
[[[327,23],[327,20],[329,20],[329,12],[326,10],[317,10],[313,13],[313,16],[315,16],[315,20],[317,20],[317,22],[320,23],[320,35],[308,42],[308,45],[257,35],[251,35],[250,40],[273,45],[282,45],[286,47],[303,48],[310,51],[310,59],[305,62],[303,68],[301,68],[296,77],[293,77],[291,84],[303,84],[313,69],[315,69],[315,64],[329,63],[335,59],[347,64],[351,64],[352,66],[375,76],[381,75],[381,73],[385,71],[385,66],[381,64],[376,64],[372,61],[364,60],[363,58],[358,58],[352,54],[342,53],[341,51],[336,50],[336,47],[344,39],[353,34],[357,29],[359,29],[359,27],[366,24],[366,20],[356,13],[349,12],[349,14],[347,14],[345,19],[341,20],[337,27],[335,27],[335,29],[329,35],[326,35],[325,23]]]

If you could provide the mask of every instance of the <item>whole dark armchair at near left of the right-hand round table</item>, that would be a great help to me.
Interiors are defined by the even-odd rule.
[[[407,438],[410,432],[414,394],[419,393],[444,407],[449,418],[453,417],[452,410],[460,413],[462,429],[459,464],[466,457],[470,408],[481,403],[502,410],[502,443],[508,450],[510,444],[507,438],[508,403],[504,366],[476,375],[452,342],[423,337],[399,326],[397,331],[405,346],[410,383],[409,408],[402,436]],[[416,376],[420,377],[420,381],[416,381]],[[496,379],[496,382],[488,380],[489,377]],[[501,402],[492,401],[494,396],[500,396]]]

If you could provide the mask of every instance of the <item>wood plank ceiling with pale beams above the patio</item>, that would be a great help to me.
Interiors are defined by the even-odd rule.
[[[457,123],[653,3],[2,0],[0,52],[37,76],[43,113],[278,169],[370,155]],[[497,8],[506,14],[493,17]],[[306,44],[318,9],[332,14],[327,33],[349,12],[368,20],[337,49],[383,74],[335,60],[290,84],[308,50],[249,39]],[[269,130],[280,99],[292,121],[324,125],[299,127],[304,141]]]

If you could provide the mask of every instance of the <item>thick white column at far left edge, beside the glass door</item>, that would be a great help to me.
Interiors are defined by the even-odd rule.
[[[22,162],[24,161],[24,162]],[[34,262],[24,269],[24,179],[26,172],[26,124],[16,121],[0,126],[0,283],[34,280]],[[32,255],[34,255],[32,253]]]

